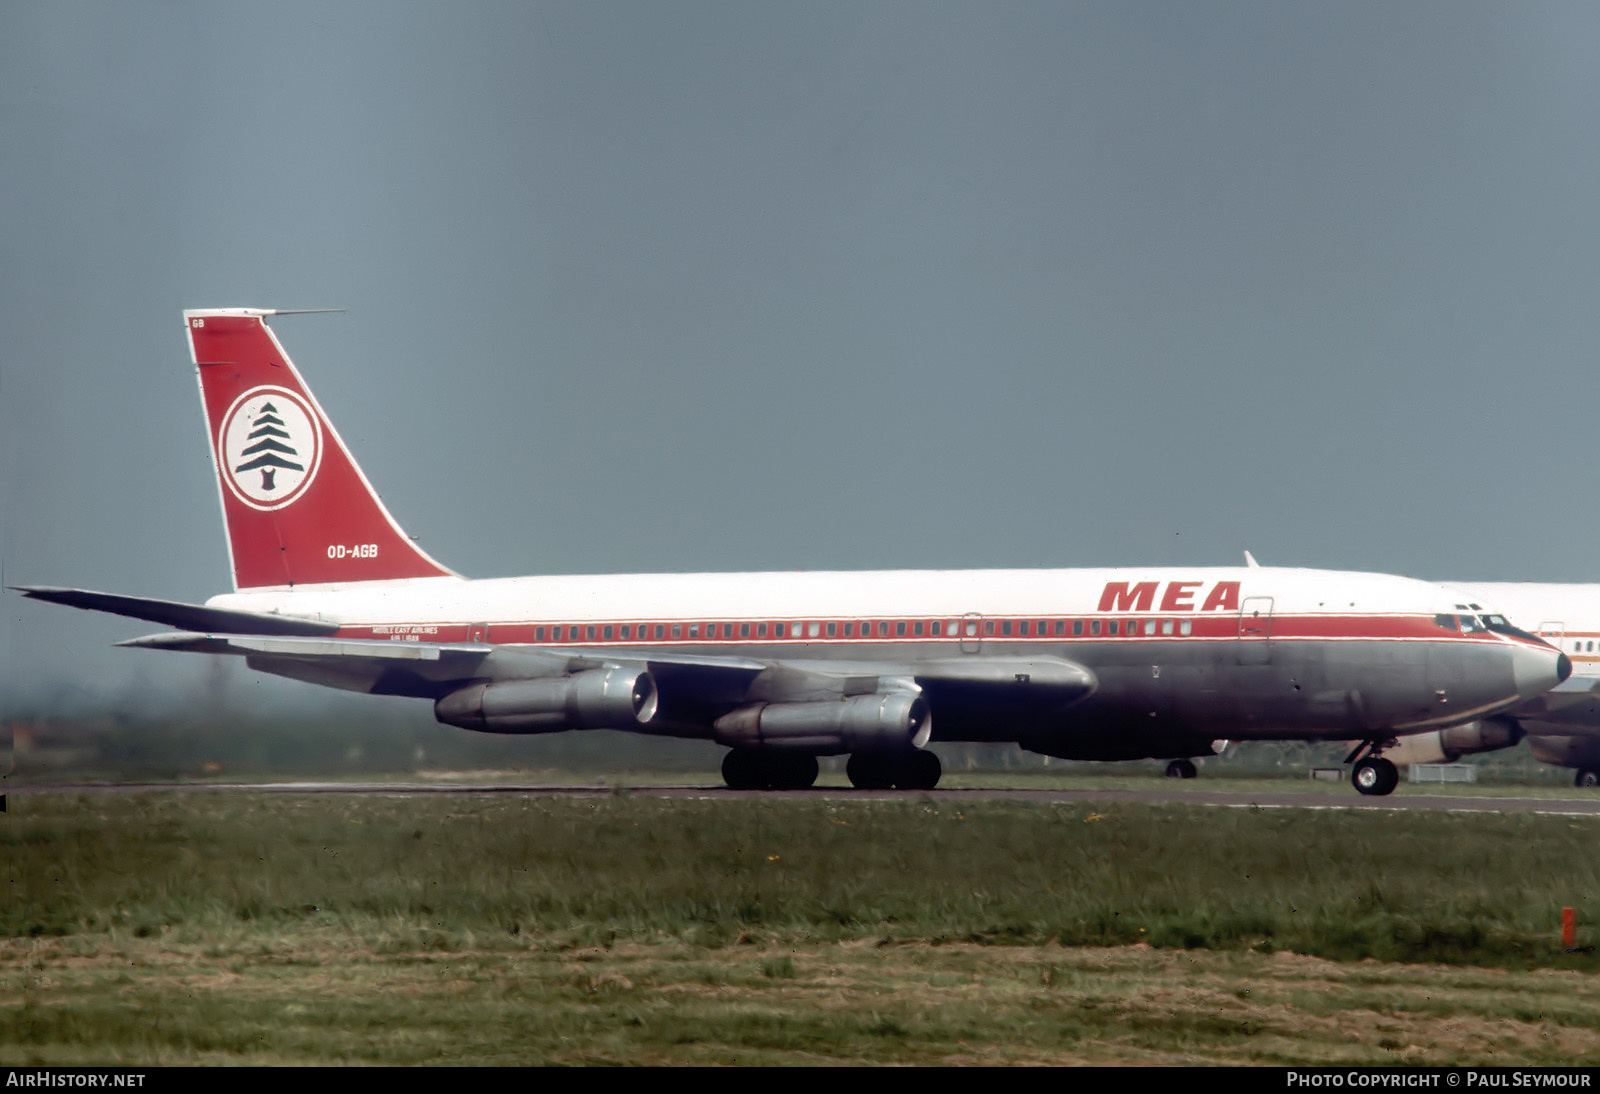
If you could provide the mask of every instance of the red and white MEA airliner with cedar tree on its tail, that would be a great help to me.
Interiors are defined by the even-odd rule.
[[[1070,760],[1219,739],[1360,739],[1394,790],[1406,734],[1474,723],[1571,661],[1483,629],[1438,585],[1288,568],[621,574],[467,579],[395,523],[283,352],[272,309],[184,326],[234,592],[203,605],[51,585],[26,597],[176,630],[122,646],[411,696],[483,733],[627,729],[728,747],[733,789],[938,785],[930,741]]]

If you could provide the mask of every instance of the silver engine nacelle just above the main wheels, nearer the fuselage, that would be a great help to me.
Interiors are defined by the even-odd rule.
[[[818,702],[758,702],[739,707],[714,726],[717,741],[734,749],[797,752],[880,752],[928,744],[928,702],[909,691],[890,691]]]

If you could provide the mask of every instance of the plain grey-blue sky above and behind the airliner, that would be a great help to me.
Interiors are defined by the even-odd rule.
[[[178,312],[469,576],[1600,581],[1600,6],[0,3],[6,584],[227,584]],[[194,667],[5,598],[13,683]],[[166,675],[163,675],[166,673]]]

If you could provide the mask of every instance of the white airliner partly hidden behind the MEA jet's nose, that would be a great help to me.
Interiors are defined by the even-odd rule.
[[[1546,694],[1499,715],[1408,737],[1390,760],[1453,763],[1526,739],[1541,763],[1576,768],[1574,785],[1600,787],[1600,653],[1595,651],[1600,585],[1450,582],[1443,589],[1454,592],[1458,613],[1496,619],[1482,608],[1493,603],[1496,611],[1531,627],[1552,646],[1568,651],[1573,672]]]

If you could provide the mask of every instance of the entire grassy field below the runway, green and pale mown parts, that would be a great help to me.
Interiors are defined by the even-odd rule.
[[[0,1064],[1592,1064],[1597,825],[13,793]]]

